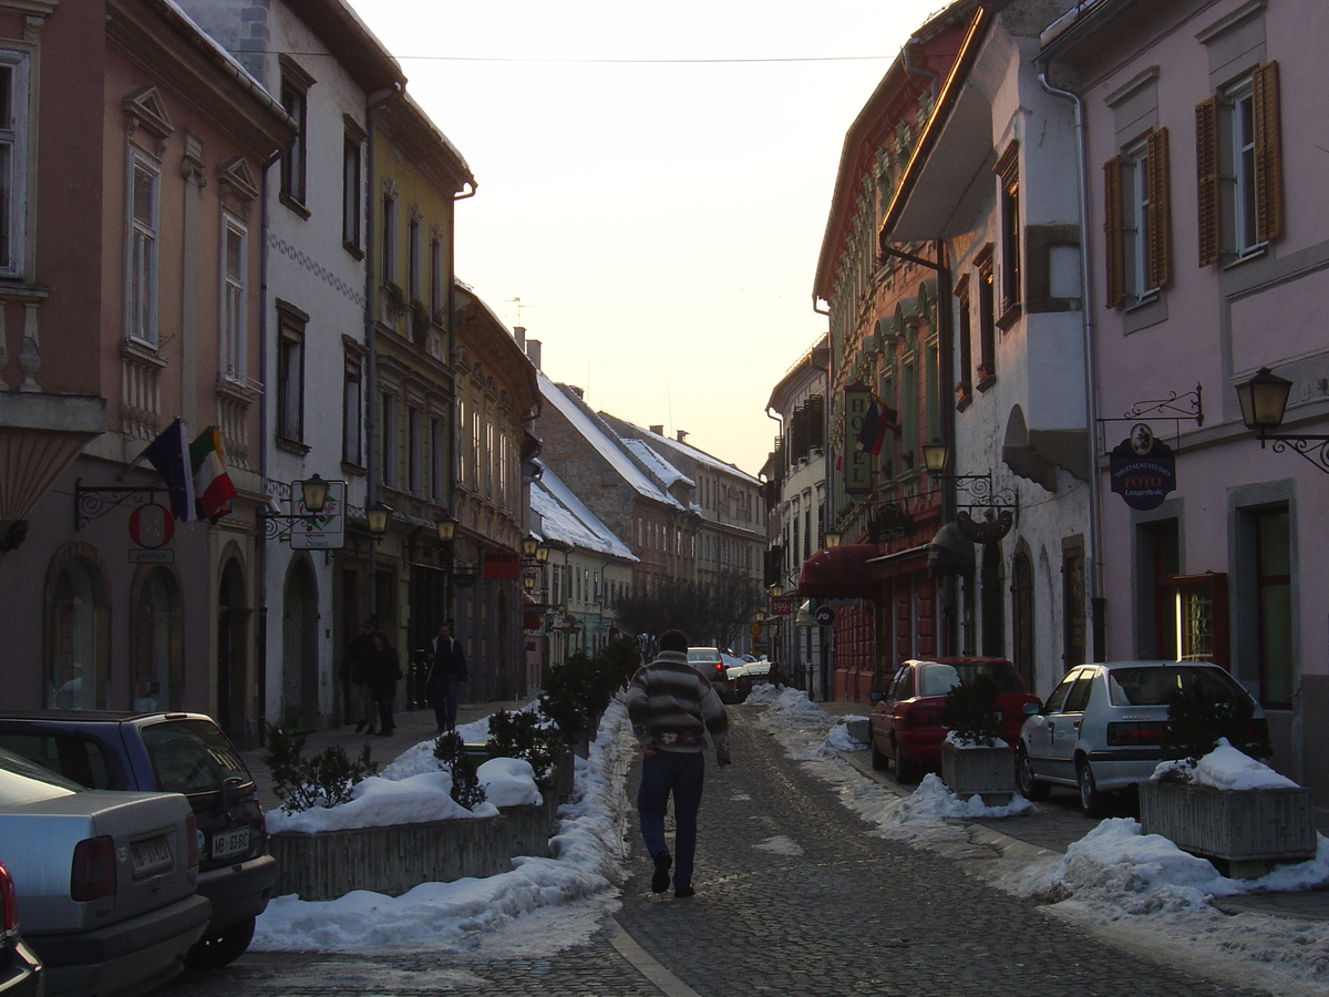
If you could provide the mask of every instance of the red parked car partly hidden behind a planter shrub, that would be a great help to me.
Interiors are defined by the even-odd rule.
[[[901,665],[882,690],[872,693],[868,722],[872,767],[894,763],[901,782],[917,782],[941,764],[941,707],[946,693],[965,679],[986,673],[997,682],[1002,738],[1014,744],[1025,722],[1025,706],[1038,698],[1015,666],[1005,658],[924,658]]]

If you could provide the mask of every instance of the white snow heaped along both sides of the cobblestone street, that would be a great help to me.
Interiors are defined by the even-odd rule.
[[[971,851],[965,818],[1002,818],[1033,808],[1017,796],[1006,807],[961,802],[929,774],[908,795],[867,778],[843,756],[864,748],[844,723],[797,690],[756,686],[750,706],[764,707],[758,723],[805,771],[828,783],[843,806],[867,823],[864,833],[881,835],[944,855]],[[750,706],[736,709],[750,709]],[[482,740],[488,719],[459,728],[462,738]],[[306,827],[391,823],[404,811],[421,815],[451,803],[451,776],[437,771],[433,742],[409,748],[367,779],[355,799],[310,814]],[[605,711],[589,758],[577,759],[573,799],[560,807],[550,851],[554,857],[513,861],[513,871],[488,879],[425,883],[400,897],[356,891],[330,901],[274,899],[258,919],[253,948],[292,952],[393,950],[465,954],[468,958],[538,958],[587,941],[618,909],[619,884],[634,856],[634,815],[625,787],[635,740],[622,699]],[[529,766],[494,759],[481,772],[493,799],[525,800]],[[1281,779],[1257,762],[1221,748],[1204,759],[1204,779],[1229,787],[1260,786]],[[1264,770],[1261,772],[1260,770]],[[396,790],[385,786],[396,780]],[[412,795],[431,799],[407,804]],[[489,803],[477,807],[477,815]],[[338,812],[342,811],[342,812]],[[488,811],[484,811],[488,812]],[[275,830],[270,815],[270,828]],[[421,816],[420,819],[427,819]],[[958,819],[958,820],[957,820]],[[797,841],[776,835],[756,845],[768,853],[796,856]],[[949,851],[948,851],[949,849]],[[1260,880],[1224,879],[1204,859],[1180,851],[1159,835],[1143,835],[1136,820],[1099,822],[1065,855],[1013,848],[982,863],[994,885],[1038,897],[1043,909],[1114,944],[1152,952],[1168,961],[1187,960],[1197,974],[1241,980],[1278,994],[1322,994],[1329,989],[1329,958],[1322,925],[1257,913],[1229,916],[1209,904],[1213,896],[1261,891],[1297,891],[1329,881],[1329,839],[1320,836],[1316,859],[1277,868]],[[641,868],[641,852],[637,852]],[[457,970],[462,973],[462,970]],[[847,988],[849,982],[847,981]]]

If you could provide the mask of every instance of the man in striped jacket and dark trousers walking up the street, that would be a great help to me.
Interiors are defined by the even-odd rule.
[[[690,897],[696,852],[696,811],[706,776],[706,734],[715,742],[715,762],[730,763],[730,718],[711,681],[687,663],[682,630],[661,634],[659,654],[633,675],[627,717],[642,747],[642,786],[637,794],[642,840],[655,872],[651,891],[663,893],[674,865],[674,896]],[[664,811],[674,796],[674,849],[664,843]]]

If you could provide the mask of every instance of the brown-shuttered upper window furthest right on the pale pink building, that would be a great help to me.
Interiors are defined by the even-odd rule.
[[[1241,259],[1282,234],[1278,64],[1195,109],[1200,266]]]

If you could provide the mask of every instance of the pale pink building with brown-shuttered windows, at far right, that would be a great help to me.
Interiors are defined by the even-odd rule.
[[[1326,36],[1329,7],[1297,0],[1098,0],[1042,36],[1084,122],[1108,657],[1227,666],[1321,802]],[[1243,419],[1265,367],[1301,456]]]

